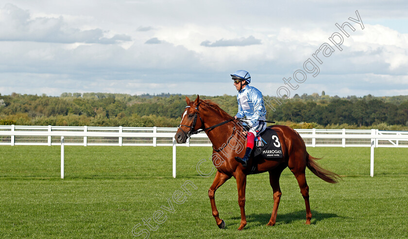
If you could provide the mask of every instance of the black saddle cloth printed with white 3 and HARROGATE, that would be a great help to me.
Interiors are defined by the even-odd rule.
[[[265,129],[255,141],[254,157],[261,155],[265,159],[283,158],[278,134],[273,129]]]

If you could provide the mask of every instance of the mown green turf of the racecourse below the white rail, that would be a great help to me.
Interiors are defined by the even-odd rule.
[[[370,148],[308,148],[320,164],[341,176],[328,184],[306,169],[312,224],[305,225],[304,200],[291,172],[281,179],[277,223],[272,213],[268,174],[247,180],[248,224],[238,231],[240,214],[235,179],[216,193],[226,229],[211,214],[208,188],[211,147],[178,147],[177,178],[171,173],[171,147],[65,147],[65,179],[60,179],[60,147],[0,147],[1,238],[404,238],[408,237],[408,148],[376,148],[374,178]],[[176,204],[172,196],[186,181],[191,195]],[[172,209],[169,212],[161,208]],[[156,211],[163,215],[153,222]],[[152,228],[143,220],[151,219]],[[164,221],[165,220],[165,221]],[[146,233],[140,233],[144,238]]]

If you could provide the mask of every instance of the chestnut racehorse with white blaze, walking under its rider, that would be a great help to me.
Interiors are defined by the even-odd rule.
[[[235,160],[235,156],[243,157],[245,154],[246,137],[244,130],[238,120],[226,113],[224,110],[210,100],[201,100],[199,95],[194,101],[186,96],[187,107],[183,113],[180,125],[174,136],[177,143],[186,143],[192,134],[204,131],[213,145],[212,161],[217,168],[214,182],[208,190],[211,203],[212,215],[219,228],[225,227],[225,222],[220,219],[215,204],[215,192],[231,177],[237,181],[238,204],[241,212],[241,222],[238,230],[242,230],[247,224],[245,217],[245,187],[248,174],[269,172],[269,181],[273,190],[272,216],[267,225],[276,223],[276,216],[282,192],[279,186],[279,178],[282,171],[289,167],[295,176],[300,192],[306,204],[306,224],[310,224],[312,213],[309,204],[309,187],[306,183],[305,170],[310,169],[316,176],[328,183],[337,183],[340,176],[336,173],[323,169],[316,160],[306,151],[306,145],[302,137],[294,129],[274,125],[268,127],[278,134],[282,147],[283,157],[277,160],[266,160],[262,157],[252,157],[248,166],[244,168]],[[199,120],[198,120],[199,118]],[[256,162],[256,170],[251,170]]]

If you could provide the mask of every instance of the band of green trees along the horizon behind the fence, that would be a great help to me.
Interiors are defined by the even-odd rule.
[[[237,113],[235,95],[200,98],[216,102],[230,115]],[[279,100],[274,110],[267,108],[267,120],[294,128],[408,130],[408,96],[340,98],[322,92]],[[185,106],[185,95],[170,93],[0,94],[0,125],[176,127]]]

